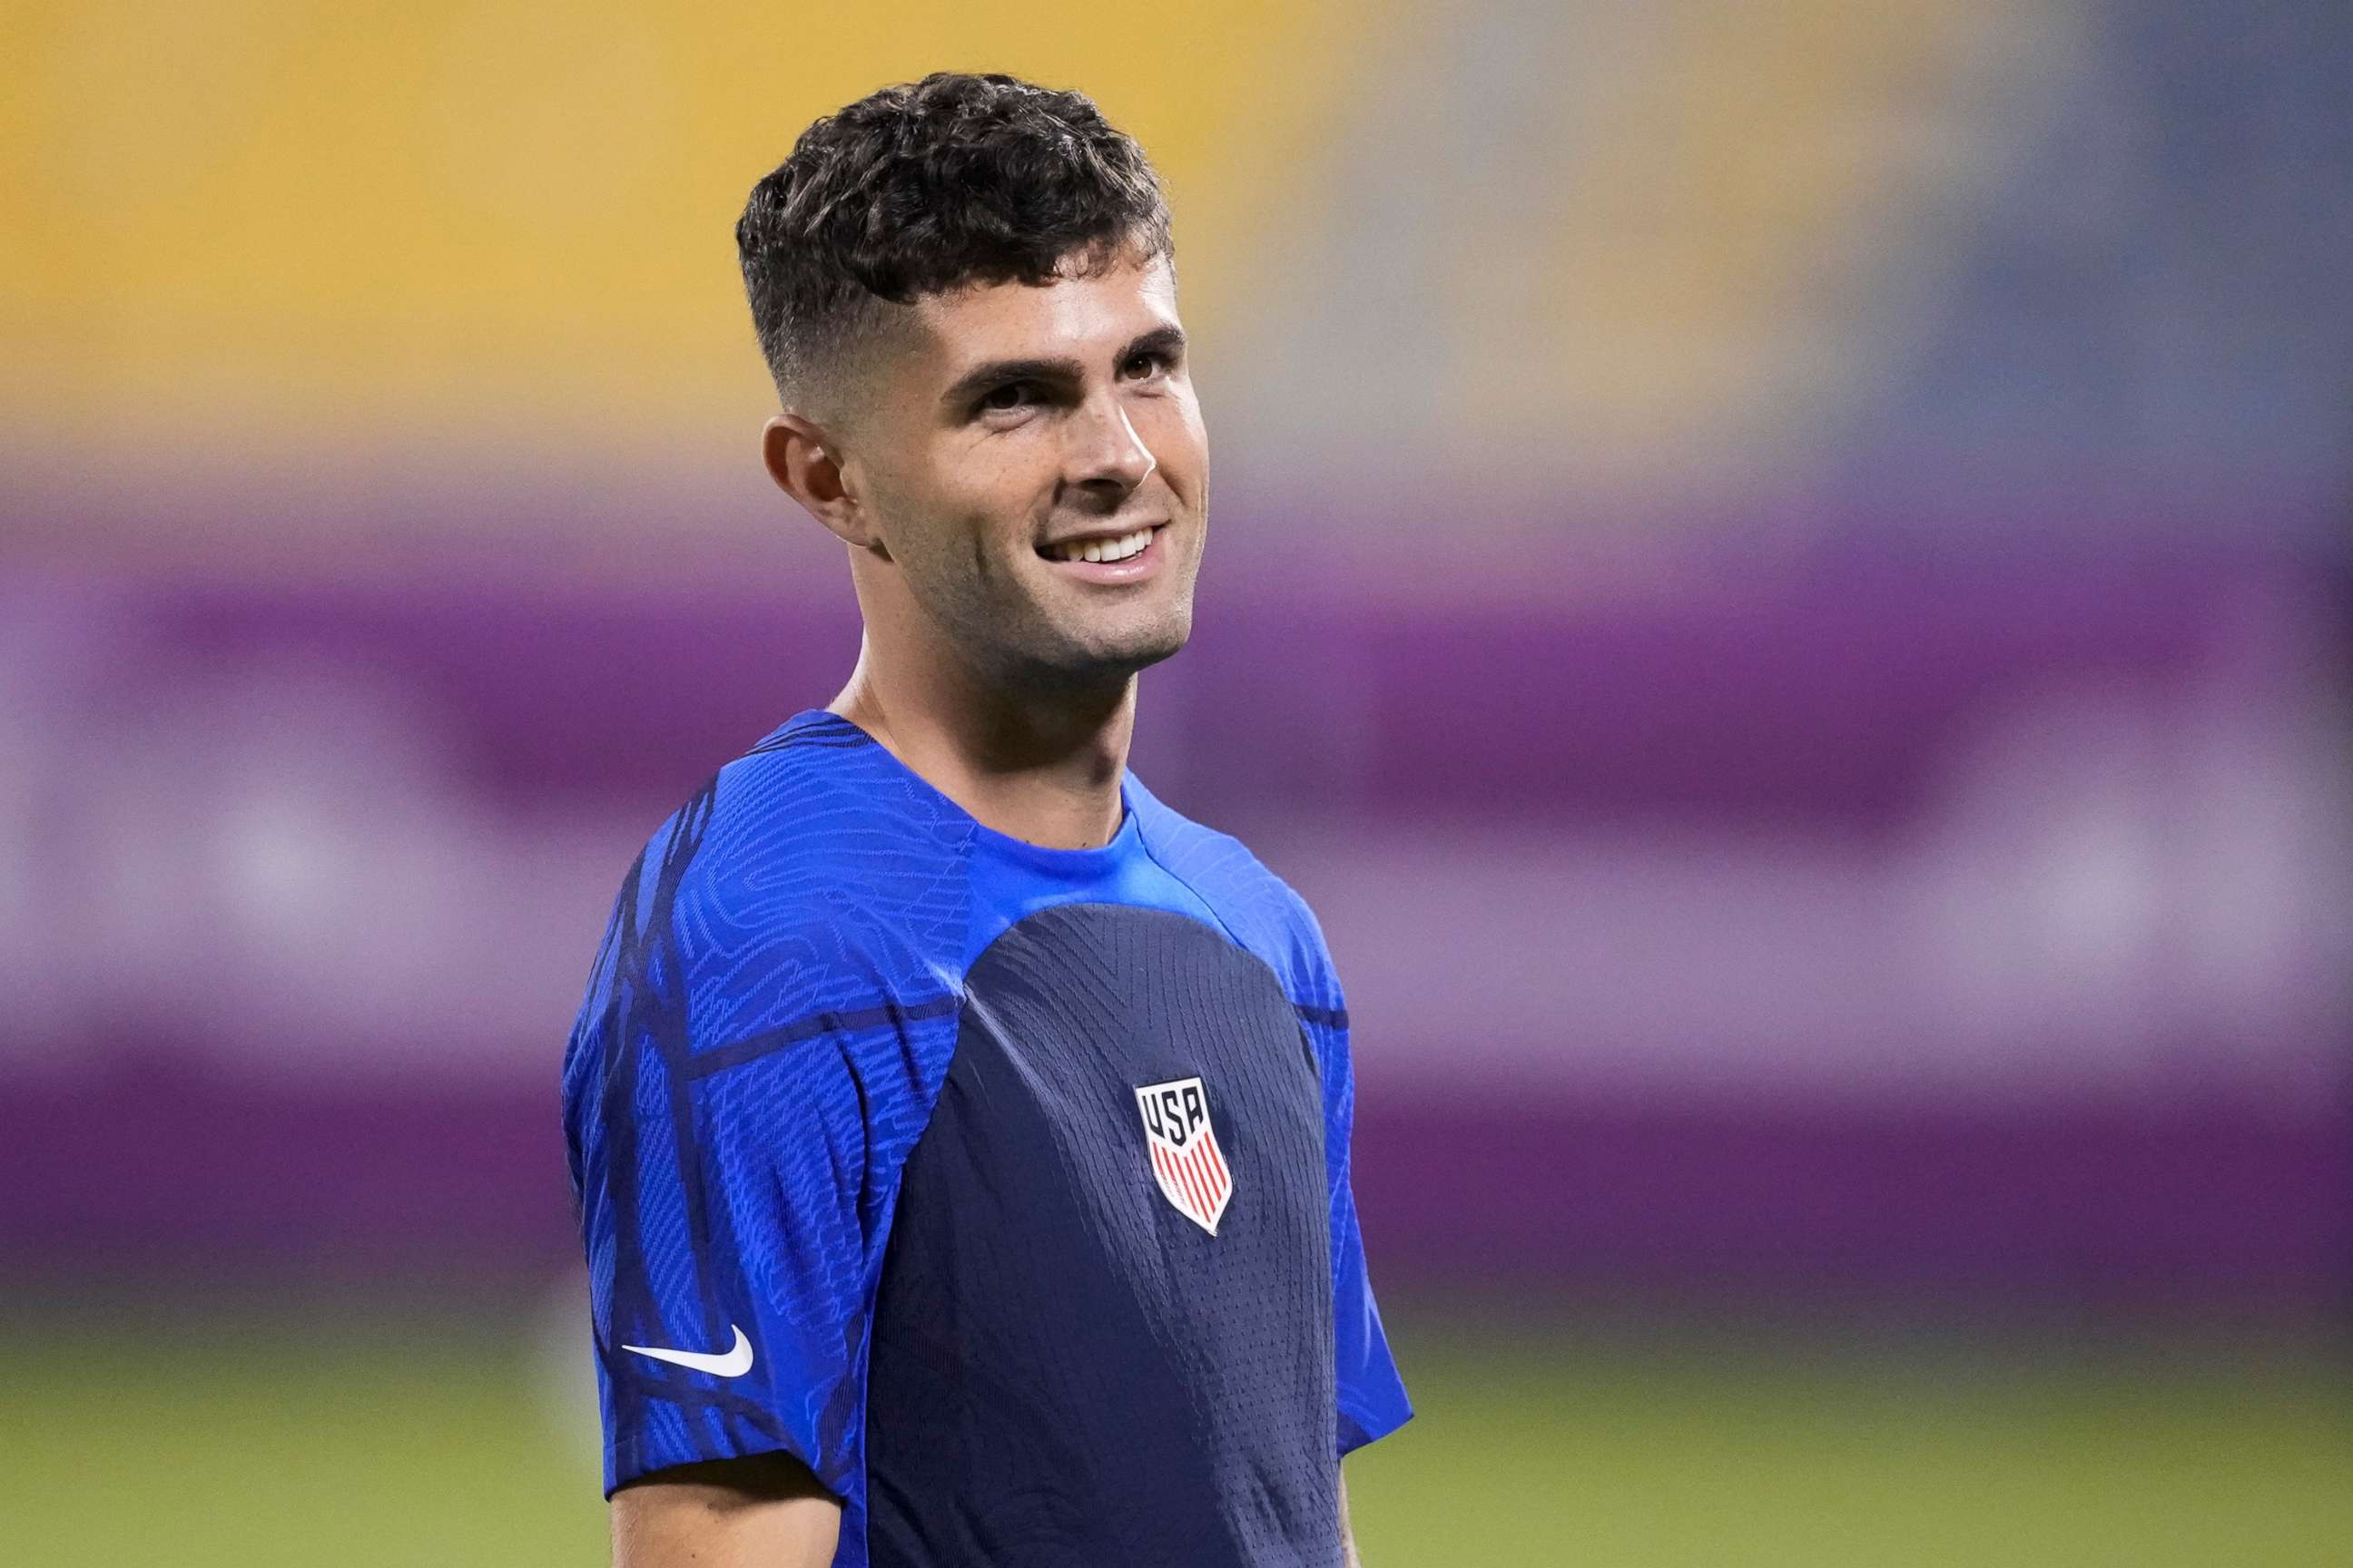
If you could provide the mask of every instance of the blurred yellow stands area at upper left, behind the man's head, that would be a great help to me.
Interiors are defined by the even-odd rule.
[[[12,423],[553,461],[758,407],[744,195],[809,120],[932,68],[1087,85],[1176,193],[1214,315],[1275,188],[1252,172],[1329,134],[1384,12],[35,2],[5,28]]]

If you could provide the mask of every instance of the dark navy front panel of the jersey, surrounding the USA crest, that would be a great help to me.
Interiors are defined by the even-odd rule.
[[[1136,1107],[1195,1077],[1217,1234]],[[875,1309],[875,1568],[1339,1563],[1322,1143],[1292,1004],[1217,931],[1080,903],[998,938]]]

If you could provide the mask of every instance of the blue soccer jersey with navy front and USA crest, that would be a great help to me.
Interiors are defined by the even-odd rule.
[[[565,1056],[605,1488],[788,1450],[835,1568],[1332,1568],[1407,1420],[1306,903],[1134,778],[981,827],[802,712],[621,889]]]

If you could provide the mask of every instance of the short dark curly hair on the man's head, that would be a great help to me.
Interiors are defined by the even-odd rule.
[[[1080,92],[939,71],[800,134],[751,190],[736,256],[786,407],[845,364],[892,306],[965,284],[1172,256],[1144,148]]]

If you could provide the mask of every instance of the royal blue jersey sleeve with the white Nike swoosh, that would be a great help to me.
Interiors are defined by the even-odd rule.
[[[694,1039],[708,976],[673,917],[689,830],[624,886],[565,1060],[605,1490],[781,1448],[847,1495],[878,1260],[859,1041]]]

